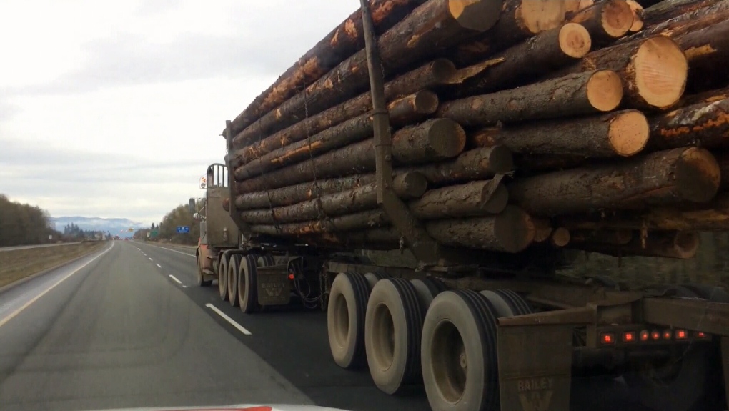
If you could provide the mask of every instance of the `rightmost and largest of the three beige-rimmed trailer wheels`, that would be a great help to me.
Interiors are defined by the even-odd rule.
[[[423,382],[434,411],[498,410],[496,314],[471,290],[444,291],[425,315]]]

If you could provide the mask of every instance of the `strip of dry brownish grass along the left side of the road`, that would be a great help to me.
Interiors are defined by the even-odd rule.
[[[96,251],[104,241],[0,252],[0,287]]]

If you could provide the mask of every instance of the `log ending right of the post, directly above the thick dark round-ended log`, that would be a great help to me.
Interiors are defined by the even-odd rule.
[[[405,125],[424,119],[427,114],[432,114],[437,106],[437,95],[424,90],[393,101],[388,105],[388,111],[394,125]],[[241,179],[249,179],[259,176],[265,171],[299,163],[322,152],[338,149],[372,136],[372,117],[370,114],[363,114],[332,128],[327,128],[311,138],[273,150],[257,160],[236,168],[235,175]]]

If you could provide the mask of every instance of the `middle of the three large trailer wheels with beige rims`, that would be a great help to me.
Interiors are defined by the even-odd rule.
[[[375,385],[394,394],[421,380],[423,310],[412,283],[383,278],[375,285],[364,317],[364,348]]]

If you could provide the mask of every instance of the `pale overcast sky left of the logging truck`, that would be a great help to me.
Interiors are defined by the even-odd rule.
[[[218,136],[359,0],[0,1],[0,193],[159,222]]]

